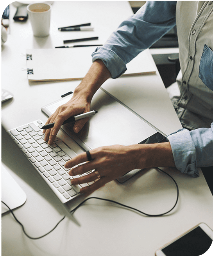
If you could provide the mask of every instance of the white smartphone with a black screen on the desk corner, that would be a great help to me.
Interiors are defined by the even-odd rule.
[[[155,252],[156,256],[199,256],[204,254],[213,241],[213,230],[199,223],[181,236]]]

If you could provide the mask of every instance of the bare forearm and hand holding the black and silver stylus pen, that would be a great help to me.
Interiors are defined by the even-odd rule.
[[[93,95],[109,77],[111,77],[111,74],[102,60],[95,60],[84,79],[75,88],[72,99],[59,106],[55,113],[48,118],[46,124],[55,123],[52,129],[43,131],[45,133],[45,141],[48,141],[48,144],[54,142],[57,132],[66,119],[90,111]],[[74,132],[79,132],[88,119],[84,118],[76,121],[73,127]]]

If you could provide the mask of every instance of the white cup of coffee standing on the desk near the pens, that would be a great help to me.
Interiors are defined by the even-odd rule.
[[[35,37],[47,37],[50,34],[50,13],[52,5],[36,3],[27,5],[27,13]]]

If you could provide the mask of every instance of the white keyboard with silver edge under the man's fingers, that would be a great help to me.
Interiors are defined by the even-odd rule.
[[[73,177],[68,175],[70,168],[66,169],[64,165],[77,154],[57,137],[52,145],[48,145],[44,141],[42,126],[44,126],[43,122],[37,120],[7,132],[61,202],[66,203],[78,196],[82,187],[90,184],[71,184],[70,180]],[[88,173],[82,175],[85,176]]]

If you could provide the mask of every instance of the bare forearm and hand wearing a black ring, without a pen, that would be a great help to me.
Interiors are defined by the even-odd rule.
[[[131,146],[103,146],[91,150],[90,154],[91,161],[88,161],[86,153],[82,153],[64,165],[65,168],[75,166],[70,170],[70,176],[81,175],[90,170],[96,170],[97,174],[100,175],[98,179],[97,174],[91,172],[88,175],[72,179],[72,184],[89,183],[89,186],[81,188],[81,193],[91,193],[136,168],[175,166],[169,142]]]

